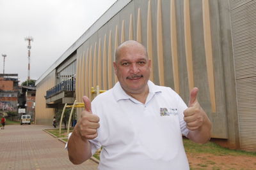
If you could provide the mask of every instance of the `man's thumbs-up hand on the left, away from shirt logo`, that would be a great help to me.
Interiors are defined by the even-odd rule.
[[[81,138],[86,141],[87,139],[94,139],[98,136],[97,129],[100,127],[100,119],[97,115],[93,115],[90,99],[83,96],[83,101],[85,109],[81,113],[76,130]]]

